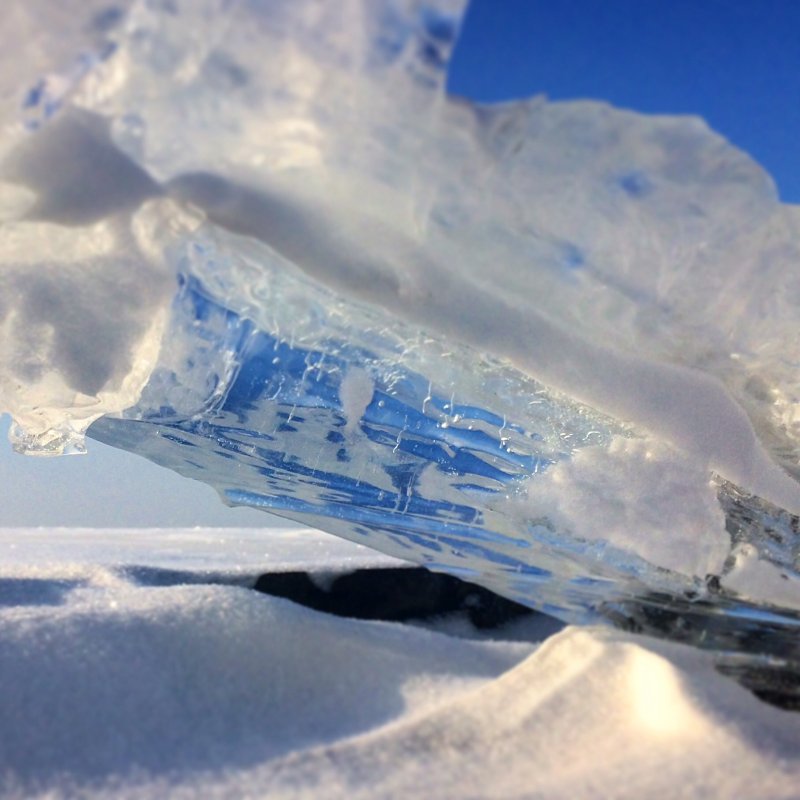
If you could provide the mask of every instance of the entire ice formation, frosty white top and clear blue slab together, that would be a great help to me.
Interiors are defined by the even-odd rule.
[[[14,446],[800,661],[800,212],[696,118],[448,96],[463,6],[11,2]]]

